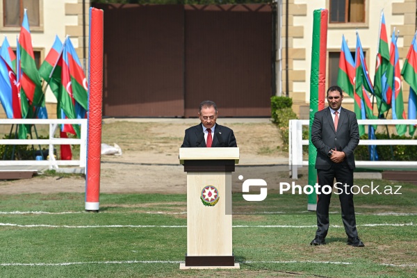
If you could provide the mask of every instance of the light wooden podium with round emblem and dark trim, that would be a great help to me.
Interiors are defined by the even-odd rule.
[[[239,148],[180,148],[187,172],[187,254],[180,269],[240,268],[231,247],[231,172]]]

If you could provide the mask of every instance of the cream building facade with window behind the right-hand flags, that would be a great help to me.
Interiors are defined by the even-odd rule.
[[[293,111],[300,119],[309,118],[313,11],[320,8],[329,10],[327,87],[336,84],[337,81],[342,35],[345,35],[347,45],[354,53],[356,31],[361,38],[368,71],[373,79],[382,10],[389,42],[394,28],[395,33],[400,31],[397,45],[401,68],[416,32],[415,0],[282,0],[280,26],[282,58],[277,60],[282,69],[281,73],[277,73],[280,74],[281,90],[277,94],[287,95],[293,99]],[[288,10],[288,18],[286,10]],[[286,30],[288,30],[288,35]],[[287,53],[288,56],[286,56]],[[405,111],[407,111],[409,85],[403,81],[402,86]],[[349,97],[346,97],[343,104],[353,109],[353,100]]]

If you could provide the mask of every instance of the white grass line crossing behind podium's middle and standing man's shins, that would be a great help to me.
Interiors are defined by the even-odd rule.
[[[97,226],[69,226],[69,225],[48,225],[48,224],[13,224],[13,223],[0,223],[0,226],[8,227],[24,227],[24,228],[36,228],[36,227],[47,227],[47,228],[186,228],[186,225],[97,225]],[[379,227],[379,226],[391,226],[391,227],[404,227],[404,226],[415,226],[413,222],[409,223],[383,223],[383,224],[361,224],[359,227]],[[316,225],[234,225],[234,228],[315,228]],[[343,228],[341,225],[330,225],[332,228]]]

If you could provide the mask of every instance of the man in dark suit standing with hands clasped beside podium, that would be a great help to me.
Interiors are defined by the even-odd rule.
[[[342,220],[347,234],[347,244],[365,246],[358,237],[354,215],[353,194],[353,151],[359,144],[359,128],[356,115],[342,108],[343,93],[338,86],[327,90],[328,108],[314,115],[311,126],[311,142],[317,148],[316,169],[318,175],[317,231],[311,245],[325,244],[329,229],[329,204],[332,193],[322,193],[323,186],[334,186],[341,202]],[[328,192],[328,190],[325,190]]]

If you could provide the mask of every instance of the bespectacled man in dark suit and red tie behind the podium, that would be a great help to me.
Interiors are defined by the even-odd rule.
[[[215,123],[218,110],[213,101],[202,101],[198,115],[202,123],[186,129],[181,147],[237,147],[233,131]]]

